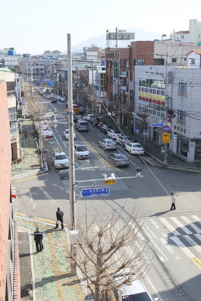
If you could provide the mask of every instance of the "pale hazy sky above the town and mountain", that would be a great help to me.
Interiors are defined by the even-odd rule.
[[[201,2],[178,0],[6,0],[1,1],[0,49],[40,54],[67,49],[106,29],[136,27],[170,35],[188,30],[189,19],[200,17]],[[200,19],[199,19],[200,18]],[[100,45],[101,46],[101,45]]]

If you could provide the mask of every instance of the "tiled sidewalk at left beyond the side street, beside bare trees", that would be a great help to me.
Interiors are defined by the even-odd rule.
[[[23,109],[23,115],[25,114],[25,110]],[[11,177],[15,175],[21,175],[25,172],[34,172],[40,171],[40,161],[38,150],[34,138],[33,132],[33,122],[30,119],[23,119],[22,123],[22,134],[19,135],[20,141],[22,141],[21,147],[21,155],[22,162],[18,164],[14,164],[11,167]],[[27,139],[24,138],[24,129],[27,130]]]

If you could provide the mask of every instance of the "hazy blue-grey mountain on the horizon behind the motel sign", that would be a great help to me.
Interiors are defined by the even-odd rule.
[[[156,34],[155,32],[144,31],[140,28],[130,27],[127,29],[127,32],[135,33],[135,41],[153,41],[155,39],[161,40],[161,34]],[[122,41],[119,41],[119,47],[122,47]],[[91,37],[84,42],[81,42],[77,45],[72,46],[72,52],[83,51],[83,47],[90,47],[91,44],[96,44],[98,47],[106,48],[106,35],[101,34],[97,37]],[[125,45],[124,45],[125,47]],[[63,51],[61,54],[67,54],[67,50]]]

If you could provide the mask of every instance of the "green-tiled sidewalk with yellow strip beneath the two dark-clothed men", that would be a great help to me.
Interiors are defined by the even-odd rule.
[[[78,276],[69,276],[70,262],[66,232],[53,226],[15,216],[18,225],[31,230],[35,272],[36,301],[83,301],[84,294]],[[37,253],[35,228],[43,232],[44,251]],[[64,246],[64,248],[63,248]]]

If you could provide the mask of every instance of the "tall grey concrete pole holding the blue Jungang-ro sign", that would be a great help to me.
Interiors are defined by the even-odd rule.
[[[71,34],[67,34],[67,45],[68,45],[68,133],[69,133],[68,142],[69,142],[70,230],[76,230]]]

